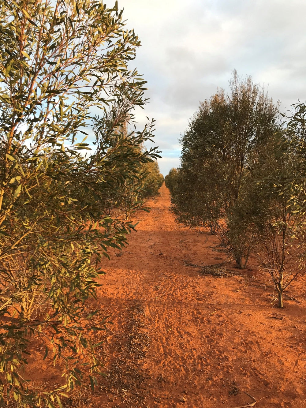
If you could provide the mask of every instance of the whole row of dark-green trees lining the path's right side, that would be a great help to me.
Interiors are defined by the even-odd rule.
[[[165,177],[178,222],[208,227],[245,268],[271,275],[278,306],[305,267],[306,104],[292,115],[234,71],[230,94],[200,104],[181,137],[181,167]]]

